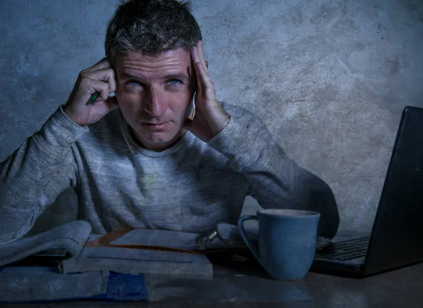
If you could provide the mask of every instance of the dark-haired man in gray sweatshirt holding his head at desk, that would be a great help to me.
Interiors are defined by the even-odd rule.
[[[121,3],[105,49],[68,102],[1,162],[0,243],[24,236],[69,186],[93,233],[200,233],[236,224],[252,195],[265,208],[321,212],[319,235],[333,237],[331,188],[290,160],[255,115],[216,99],[188,4]]]

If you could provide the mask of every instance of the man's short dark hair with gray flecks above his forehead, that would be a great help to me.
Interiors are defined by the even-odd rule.
[[[190,51],[199,39],[200,27],[190,13],[189,0],[121,0],[109,20],[104,49],[115,68],[118,53],[157,56],[178,48]]]

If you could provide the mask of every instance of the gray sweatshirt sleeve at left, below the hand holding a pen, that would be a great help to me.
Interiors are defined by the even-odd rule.
[[[75,187],[71,146],[88,130],[60,106],[42,129],[0,163],[0,243],[23,237],[62,191]]]

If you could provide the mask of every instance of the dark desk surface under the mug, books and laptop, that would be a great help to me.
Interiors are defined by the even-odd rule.
[[[78,300],[4,307],[423,307],[423,263],[362,279],[309,272],[288,282],[269,278],[253,261],[218,261],[212,279],[145,278],[149,302]]]

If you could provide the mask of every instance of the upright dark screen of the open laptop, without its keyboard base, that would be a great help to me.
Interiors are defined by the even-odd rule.
[[[423,108],[401,117],[365,271],[383,271],[423,260]]]

